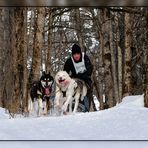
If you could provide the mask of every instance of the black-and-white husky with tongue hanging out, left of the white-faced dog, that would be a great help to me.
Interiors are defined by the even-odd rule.
[[[52,107],[51,92],[53,85],[53,77],[50,73],[42,73],[39,81],[35,81],[31,87],[29,100],[29,112],[34,112],[37,116],[47,115]]]

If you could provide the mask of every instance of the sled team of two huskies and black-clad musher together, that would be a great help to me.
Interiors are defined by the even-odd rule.
[[[93,65],[79,45],[72,46],[72,55],[55,77],[42,73],[32,84],[28,111],[37,116],[55,112],[58,115],[89,112],[93,101],[91,75]]]

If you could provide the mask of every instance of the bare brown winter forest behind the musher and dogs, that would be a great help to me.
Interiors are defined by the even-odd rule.
[[[62,70],[74,43],[93,63],[100,110],[140,94],[148,107],[147,7],[0,7],[0,106],[26,113],[33,81]]]

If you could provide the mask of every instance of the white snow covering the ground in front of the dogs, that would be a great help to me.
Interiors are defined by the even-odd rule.
[[[122,148],[129,145],[139,148],[147,145],[147,141],[138,141],[148,140],[148,109],[144,107],[143,95],[125,97],[117,106],[103,111],[64,116],[34,118],[18,116],[10,119],[5,109],[0,108],[0,140],[9,140],[0,142],[0,147],[5,148],[10,147],[10,144],[12,148],[22,147],[22,144],[27,148],[33,146],[38,148],[43,145],[44,148],[49,145],[64,148],[79,146],[87,148],[98,145],[102,148],[119,146]],[[48,141],[31,143],[18,140]]]

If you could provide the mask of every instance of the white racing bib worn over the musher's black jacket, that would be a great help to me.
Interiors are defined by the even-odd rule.
[[[71,57],[74,68],[76,70],[76,74],[78,73],[83,73],[84,71],[86,71],[86,66],[85,66],[85,62],[84,62],[84,52],[82,53],[82,61],[76,63],[73,59],[73,57]]]

